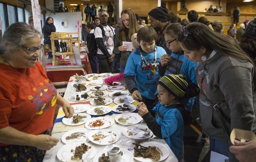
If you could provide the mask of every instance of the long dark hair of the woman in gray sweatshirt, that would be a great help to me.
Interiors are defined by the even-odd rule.
[[[212,31],[205,24],[198,22],[189,23],[184,30],[186,30],[188,35],[184,36],[181,32],[178,35],[178,41],[184,48],[188,50],[199,50],[201,46],[203,46],[209,51],[215,50],[219,54],[247,60],[253,64],[254,74],[256,75],[254,61],[244,53],[239,44],[232,37]]]

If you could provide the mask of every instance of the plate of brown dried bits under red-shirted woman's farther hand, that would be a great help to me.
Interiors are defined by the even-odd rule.
[[[62,122],[66,125],[74,126],[74,125],[84,124],[90,119],[91,119],[91,116],[89,114],[78,113],[78,114],[74,114],[73,117],[71,118],[66,118],[66,117],[62,118]]]

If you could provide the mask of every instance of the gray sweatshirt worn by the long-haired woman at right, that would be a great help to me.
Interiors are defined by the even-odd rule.
[[[216,53],[195,70],[200,86],[202,129],[224,143],[230,141],[213,105],[218,104],[230,131],[233,128],[256,132],[256,91],[253,65],[236,57]],[[228,120],[230,119],[230,123]]]

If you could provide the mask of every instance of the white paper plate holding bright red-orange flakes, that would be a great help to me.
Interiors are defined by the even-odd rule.
[[[93,127],[92,125],[95,122],[103,122],[103,125]],[[114,123],[115,123],[114,119],[112,119],[110,117],[94,117],[94,118],[90,119],[89,121],[87,121],[85,123],[85,128],[88,128],[88,129],[103,129],[103,128],[110,127]]]

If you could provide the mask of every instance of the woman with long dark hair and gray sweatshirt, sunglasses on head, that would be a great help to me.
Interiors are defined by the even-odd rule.
[[[183,27],[177,40],[185,57],[199,62],[195,75],[201,89],[202,129],[210,136],[210,150],[237,162],[228,151],[230,131],[256,133],[255,65],[236,40],[202,23]]]

